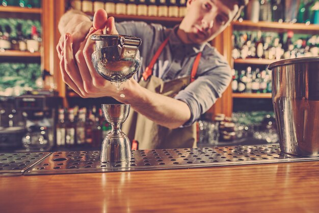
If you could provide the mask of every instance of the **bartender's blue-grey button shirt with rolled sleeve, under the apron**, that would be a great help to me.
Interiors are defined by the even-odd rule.
[[[142,39],[139,48],[141,67],[134,76],[136,80],[149,65],[159,45],[169,36],[169,42],[153,67],[153,75],[164,81],[191,75],[197,53],[202,56],[197,69],[196,80],[181,90],[174,98],[185,102],[191,109],[191,119],[183,126],[192,125],[222,96],[231,80],[231,69],[226,59],[209,43],[184,44],[176,31],[162,25],[140,21],[116,23],[120,35],[136,36]],[[229,41],[230,42],[230,41]]]

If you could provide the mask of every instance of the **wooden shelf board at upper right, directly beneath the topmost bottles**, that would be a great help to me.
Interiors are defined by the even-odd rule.
[[[279,23],[269,21],[258,21],[257,23],[243,20],[242,22],[233,22],[234,30],[263,30],[263,31],[276,31],[276,32],[287,32],[289,30],[295,33],[305,34],[318,34],[319,25],[306,25],[305,23]]]

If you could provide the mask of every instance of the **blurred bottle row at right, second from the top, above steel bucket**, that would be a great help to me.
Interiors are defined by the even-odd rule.
[[[261,31],[234,31],[232,35],[234,49],[232,57],[290,59],[319,55],[319,36],[294,36],[293,31],[287,33],[270,33]]]

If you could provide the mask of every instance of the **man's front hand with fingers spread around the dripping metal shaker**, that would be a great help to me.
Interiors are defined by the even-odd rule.
[[[106,29],[108,34],[117,34],[114,18],[107,21],[104,10],[98,10],[93,18],[93,27],[90,29],[84,41],[79,43],[78,50],[74,49],[74,39],[70,33],[66,33],[63,38],[63,48],[61,50],[60,68],[63,81],[69,85],[79,96],[83,98],[96,98],[104,96],[116,96],[119,98],[119,91],[116,87],[102,77],[94,69],[91,55],[94,52],[95,41],[91,40],[92,34],[102,34]],[[95,28],[101,29],[96,30]]]

